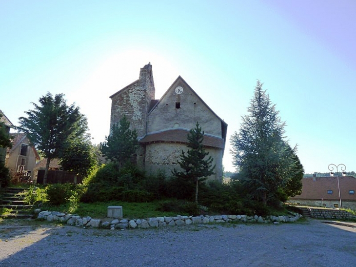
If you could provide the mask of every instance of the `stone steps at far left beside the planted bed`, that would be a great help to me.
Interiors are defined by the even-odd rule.
[[[26,188],[7,187],[0,196],[0,219],[31,219],[33,205],[24,203]],[[9,209],[9,210],[7,210]]]

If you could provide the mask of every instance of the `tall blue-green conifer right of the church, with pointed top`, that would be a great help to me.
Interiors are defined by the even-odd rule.
[[[252,198],[266,205],[290,181],[293,159],[290,146],[283,140],[285,123],[259,81],[248,112],[242,117],[239,132],[231,138],[230,152]]]

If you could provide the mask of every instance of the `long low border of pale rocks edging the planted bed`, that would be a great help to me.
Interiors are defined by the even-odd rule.
[[[113,219],[111,221],[101,221],[99,219],[92,219],[91,217],[80,217],[72,214],[59,213],[57,211],[40,211],[38,219],[47,220],[49,222],[60,222],[71,226],[81,227],[102,227],[110,229],[126,229],[126,228],[150,228],[150,227],[165,227],[165,226],[183,226],[194,224],[209,224],[209,223],[228,223],[228,222],[242,222],[242,223],[287,223],[295,222],[302,215],[298,213],[291,213],[288,216],[247,216],[247,215],[200,215],[200,216],[176,216],[176,217],[155,217],[148,219]]]

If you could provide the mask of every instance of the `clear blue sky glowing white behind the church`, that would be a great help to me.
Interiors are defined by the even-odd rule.
[[[229,140],[258,79],[307,173],[356,171],[355,13],[355,0],[0,0],[0,109],[16,125],[31,102],[64,93],[98,144],[109,96],[151,62],[156,99],[182,76]]]

